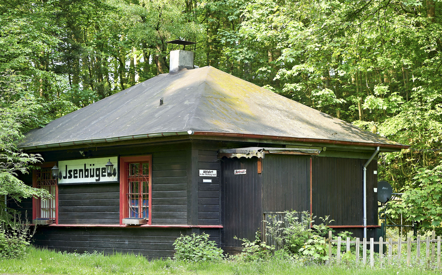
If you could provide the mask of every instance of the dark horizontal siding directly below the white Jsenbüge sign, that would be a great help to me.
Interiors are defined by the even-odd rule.
[[[120,185],[58,186],[58,223],[118,225]]]

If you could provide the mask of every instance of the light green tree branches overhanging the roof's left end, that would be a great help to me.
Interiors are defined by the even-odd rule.
[[[42,161],[40,155],[24,153],[18,144],[23,132],[44,126],[59,112],[75,109],[70,102],[46,102],[34,97],[11,70],[0,75],[0,195],[8,194],[18,201],[32,196],[49,196],[46,190],[27,186],[16,178],[18,174],[29,173],[34,164]],[[54,110],[57,110],[55,114]]]

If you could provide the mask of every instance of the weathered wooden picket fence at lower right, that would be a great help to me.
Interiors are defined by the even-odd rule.
[[[398,238],[398,241],[392,241],[392,238],[389,238],[389,241],[386,242],[383,240],[382,237],[379,238],[379,241],[374,241],[373,238],[370,238],[370,241],[367,242],[367,238],[362,239],[362,264],[367,264],[367,244],[370,244],[370,267],[374,267],[374,245],[375,244],[381,244],[379,245],[379,267],[383,267],[385,264],[392,264],[392,254],[393,254],[393,245],[397,245],[397,264],[400,266],[402,264],[402,245],[407,244],[407,266],[410,266],[411,259],[412,259],[412,244],[416,244],[416,256],[417,256],[417,263],[420,263],[420,256],[421,256],[421,243],[425,243],[426,246],[426,261],[427,261],[427,268],[430,267],[437,267],[440,269],[441,267],[441,236],[437,236],[437,239],[435,238],[435,232],[433,231],[432,236],[427,236],[426,240],[421,240],[420,236],[417,236],[417,240],[412,240],[411,238],[408,238],[407,241],[403,241],[401,238]],[[325,237],[324,237],[325,240]],[[333,257],[331,253],[332,245],[331,243],[337,243],[337,253],[336,256]],[[350,245],[354,244],[356,246],[355,254],[356,254],[356,265],[360,264],[360,257],[359,257],[359,245],[361,244],[360,238],[356,238],[356,240],[350,241],[350,237],[347,237],[347,240],[342,240],[341,237],[338,237],[338,240],[332,240],[331,231],[328,232],[328,256],[330,258],[329,264],[331,264],[333,261],[336,263],[341,262],[341,246],[344,245],[346,247],[346,251],[350,251]],[[383,251],[383,244],[387,245],[388,254],[384,255]],[[437,258],[435,261],[435,246],[437,244]],[[430,249],[431,248],[431,249]],[[343,249],[344,250],[344,249]],[[431,252],[430,252],[431,250]],[[344,251],[342,253],[345,253]],[[384,257],[387,257],[387,261],[385,262]],[[349,264],[349,261],[347,260],[347,265]]]

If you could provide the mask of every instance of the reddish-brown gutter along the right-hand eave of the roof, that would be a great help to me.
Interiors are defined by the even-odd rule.
[[[225,137],[238,137],[238,138],[250,138],[250,139],[271,139],[271,140],[286,140],[286,141],[298,141],[309,143],[329,143],[329,144],[341,144],[341,145],[355,145],[355,146],[369,146],[369,147],[384,147],[384,148],[397,148],[407,149],[410,145],[404,144],[391,144],[391,143],[370,143],[370,142],[354,142],[344,140],[330,140],[330,139],[309,139],[309,138],[296,138],[290,136],[267,136],[256,134],[244,134],[244,133],[232,133],[232,132],[200,132],[194,131],[194,135],[197,136],[225,136]]]

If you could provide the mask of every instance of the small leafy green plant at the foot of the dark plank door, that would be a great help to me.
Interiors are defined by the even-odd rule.
[[[271,251],[274,250],[274,246],[267,245],[266,242],[261,241],[261,232],[255,232],[255,240],[250,241],[246,238],[238,239],[234,236],[236,240],[240,240],[243,243],[243,252],[236,258],[244,260],[245,262],[268,260],[271,256]]]

